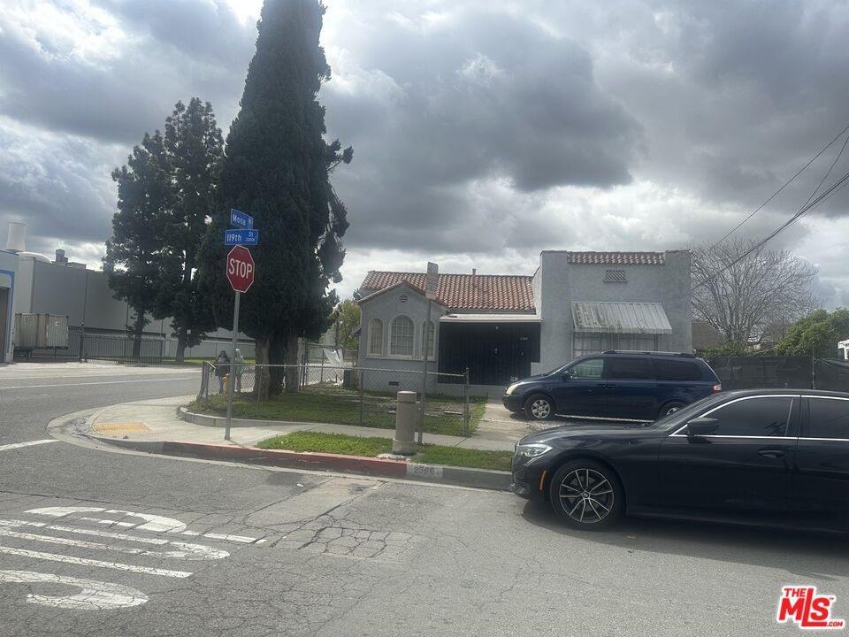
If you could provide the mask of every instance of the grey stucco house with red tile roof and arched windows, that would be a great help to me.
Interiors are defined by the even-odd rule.
[[[608,349],[692,351],[687,250],[546,250],[532,275],[440,273],[430,301],[426,279],[371,271],[363,280],[360,367],[419,372],[368,389],[421,389],[425,357],[428,391],[450,391],[447,374],[468,369],[472,385],[493,393]]]

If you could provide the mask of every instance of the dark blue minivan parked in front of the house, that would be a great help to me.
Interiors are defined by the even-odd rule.
[[[654,420],[721,391],[716,374],[692,354],[607,351],[506,388],[510,411],[547,420],[555,414]]]

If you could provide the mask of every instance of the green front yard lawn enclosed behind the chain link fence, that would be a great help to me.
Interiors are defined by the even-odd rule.
[[[363,394],[362,420],[360,393],[338,387],[310,386],[297,394],[273,396],[258,403],[250,394],[233,397],[235,418],[320,422],[394,429],[394,395]],[[226,397],[210,395],[209,403],[195,401],[189,411],[221,415],[226,413]],[[470,398],[469,433],[478,428],[486,410],[486,399]],[[428,397],[424,411],[424,431],[429,434],[463,435],[463,399],[451,396]]]

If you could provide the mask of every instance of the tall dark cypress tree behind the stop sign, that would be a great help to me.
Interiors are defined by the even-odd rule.
[[[256,278],[241,299],[240,329],[256,340],[257,363],[269,362],[270,352],[272,362],[292,360],[297,337],[320,323],[328,296],[318,255],[331,192],[325,111],[317,102],[330,79],[318,43],[324,12],[317,0],[266,0],[241,111],[227,135],[218,211],[203,246],[203,286],[218,325],[232,327],[221,242],[230,208],[253,216],[260,244],[251,250]],[[268,389],[263,374],[256,391],[265,397]]]

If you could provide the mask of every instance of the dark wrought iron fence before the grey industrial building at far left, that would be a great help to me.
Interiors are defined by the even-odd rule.
[[[115,361],[119,363],[162,363],[164,339],[142,337],[138,352],[136,340],[126,334],[96,334],[79,328],[68,330],[65,348],[15,348],[15,358],[50,360]]]

